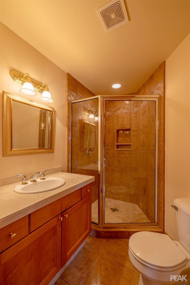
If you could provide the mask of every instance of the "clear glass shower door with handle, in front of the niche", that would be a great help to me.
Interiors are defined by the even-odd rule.
[[[156,100],[105,99],[104,224],[154,223]]]

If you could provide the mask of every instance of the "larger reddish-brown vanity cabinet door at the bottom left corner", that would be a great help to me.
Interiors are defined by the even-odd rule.
[[[0,255],[1,284],[49,284],[61,269],[61,215]]]

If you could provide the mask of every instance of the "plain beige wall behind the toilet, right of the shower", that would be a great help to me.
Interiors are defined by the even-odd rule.
[[[173,200],[190,197],[190,34],[166,61],[165,231],[177,240]]]

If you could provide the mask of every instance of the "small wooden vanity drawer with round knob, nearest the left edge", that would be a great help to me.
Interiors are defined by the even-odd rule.
[[[16,234],[16,235],[14,235]],[[0,229],[1,252],[29,234],[29,216],[25,216]],[[11,238],[12,236],[12,238]]]

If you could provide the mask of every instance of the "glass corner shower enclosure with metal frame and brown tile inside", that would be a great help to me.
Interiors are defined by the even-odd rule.
[[[71,172],[95,177],[93,232],[99,237],[107,231],[110,237],[113,232],[117,237],[139,230],[162,232],[159,96],[94,96],[71,103]],[[88,120],[89,109],[99,110],[99,121]]]

